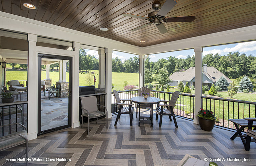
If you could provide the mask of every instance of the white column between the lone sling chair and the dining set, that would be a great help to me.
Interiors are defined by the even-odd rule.
[[[106,53],[106,90],[105,92],[107,93],[106,96],[106,107],[108,110],[108,118],[112,118],[112,113],[111,113],[111,98],[112,98],[112,87],[111,87],[111,83],[112,83],[112,52],[113,49],[110,48],[106,48],[105,49],[105,53]]]

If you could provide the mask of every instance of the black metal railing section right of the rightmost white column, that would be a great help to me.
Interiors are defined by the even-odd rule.
[[[235,129],[228,119],[256,117],[256,102],[230,100],[202,96],[202,108],[211,110],[216,119],[215,125]]]

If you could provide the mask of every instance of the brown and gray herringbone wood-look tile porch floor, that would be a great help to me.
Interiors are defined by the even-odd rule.
[[[221,162],[216,162],[219,166],[256,165],[256,144],[252,142],[250,151],[245,151],[239,137],[230,140],[234,132],[216,127],[211,132],[203,131],[199,125],[181,118],[176,118],[179,127],[175,128],[167,116],[161,128],[155,119],[153,127],[149,124],[138,127],[135,117],[132,127],[129,116],[121,115],[117,126],[114,126],[116,116],[109,119],[108,129],[104,119],[98,124],[91,122],[89,135],[87,124],[84,128],[67,128],[41,135],[29,141],[30,159],[41,160],[31,161],[30,165],[172,166],[185,154],[202,160],[220,158]],[[25,148],[17,146],[2,151],[0,157],[0,165],[25,165],[25,162],[6,162],[6,158],[25,157]],[[46,161],[48,158],[55,161]],[[243,162],[227,161],[229,158],[242,158]],[[250,161],[245,162],[244,158]]]

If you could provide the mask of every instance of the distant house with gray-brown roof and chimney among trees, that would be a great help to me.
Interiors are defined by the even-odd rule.
[[[215,67],[208,67],[207,64],[203,65],[203,85],[208,85],[210,88],[212,83],[215,83],[221,76],[225,77],[228,83],[232,82]],[[169,78],[172,80],[172,83],[170,83],[171,86],[177,86],[178,82],[182,81],[184,85],[188,82],[189,87],[191,87],[192,85],[195,85],[195,67],[190,67],[186,71],[176,71],[170,75]]]

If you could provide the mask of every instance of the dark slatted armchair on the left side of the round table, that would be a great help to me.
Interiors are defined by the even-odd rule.
[[[118,108],[119,108],[115,125],[117,125],[117,121],[120,118],[121,114],[129,114],[129,116],[130,116],[130,126],[132,126],[133,111],[134,111],[134,108],[132,107],[133,104],[125,103],[125,101],[130,101],[131,102],[131,100],[127,100],[127,99],[120,100],[118,92],[116,90],[113,90],[113,92],[114,92],[114,96],[116,98],[117,105],[118,105]],[[123,103],[121,103],[121,101],[123,101]],[[128,106],[128,107],[124,107],[124,106]]]

